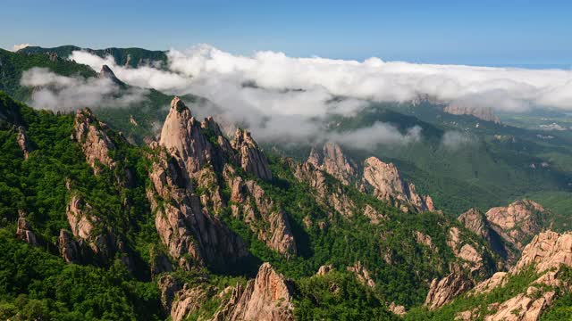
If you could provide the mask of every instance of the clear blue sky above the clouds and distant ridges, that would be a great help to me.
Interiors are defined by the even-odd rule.
[[[4,0],[0,47],[207,43],[240,54],[569,68],[571,12],[570,1]]]

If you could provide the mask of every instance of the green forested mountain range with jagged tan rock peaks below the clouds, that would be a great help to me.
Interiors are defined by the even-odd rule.
[[[217,111],[199,95],[70,60],[77,50],[0,50],[0,317],[572,317],[568,130],[420,97],[323,124],[422,128],[409,144],[282,144],[199,117]],[[84,50],[126,68],[168,63]],[[103,79],[114,99],[29,107],[46,88],[22,81],[35,68]]]

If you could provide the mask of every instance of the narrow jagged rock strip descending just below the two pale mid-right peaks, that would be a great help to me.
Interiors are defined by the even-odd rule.
[[[356,205],[344,192],[341,185],[328,184],[324,171],[316,169],[310,162],[302,164],[290,161],[290,168],[299,182],[306,183],[315,189],[315,199],[326,207],[332,207],[344,217],[353,216]],[[373,209],[372,209],[373,210]],[[374,214],[372,211],[370,214]]]

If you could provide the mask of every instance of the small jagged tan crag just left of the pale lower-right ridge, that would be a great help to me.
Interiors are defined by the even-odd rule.
[[[425,306],[429,309],[438,309],[449,303],[458,294],[466,292],[473,286],[473,282],[460,268],[452,268],[448,276],[441,280],[433,279],[429,286],[429,292],[425,298]]]

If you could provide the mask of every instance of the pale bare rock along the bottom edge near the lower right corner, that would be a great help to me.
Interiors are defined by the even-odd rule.
[[[538,320],[543,310],[548,308],[555,299],[556,292],[543,292],[538,297],[539,295],[535,294],[538,290],[531,288],[526,293],[517,294],[502,302],[496,313],[484,319],[486,321]]]

